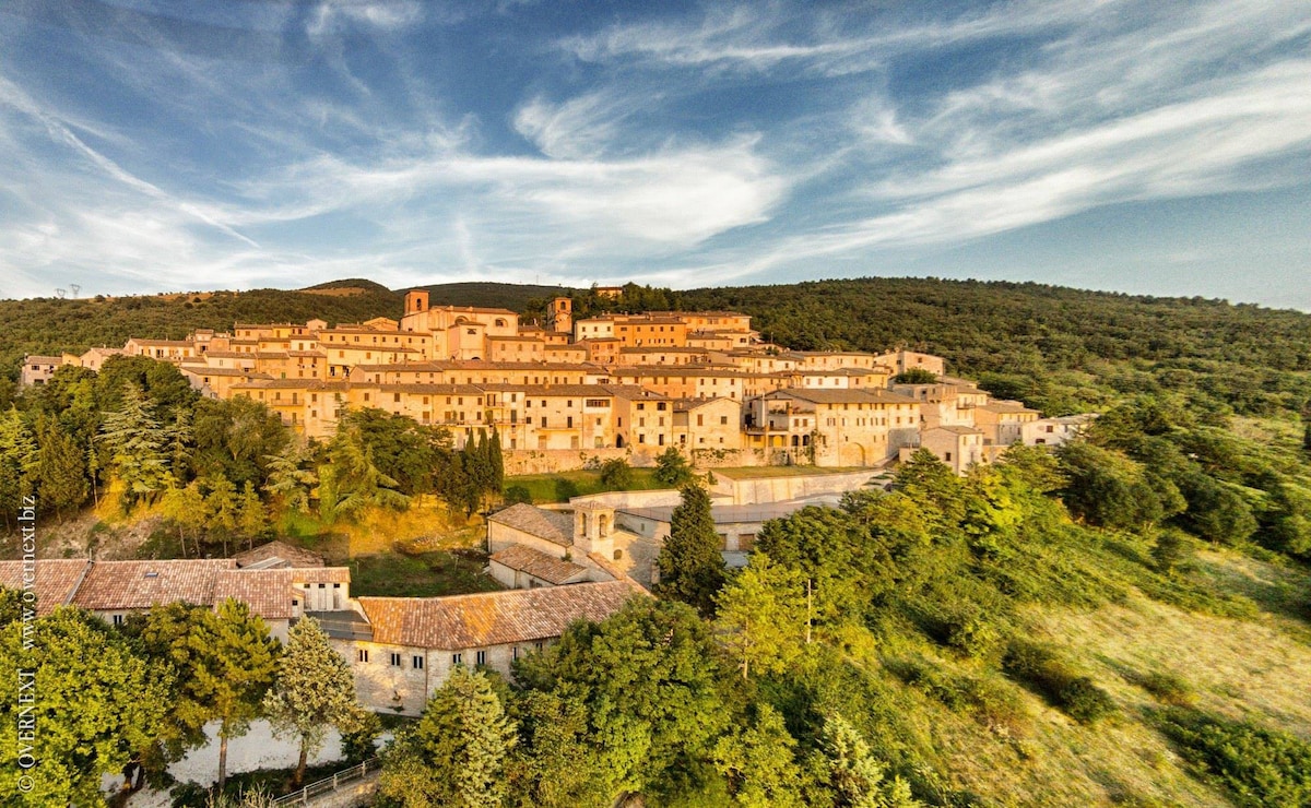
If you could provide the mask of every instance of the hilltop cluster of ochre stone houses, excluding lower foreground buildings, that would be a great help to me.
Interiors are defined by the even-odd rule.
[[[406,295],[400,320],[237,323],[231,334],[28,356],[22,382],[43,384],[66,364],[98,371],[113,355],[174,363],[202,394],[260,401],[308,439],[332,436],[342,407],[444,426],[456,445],[496,430],[514,474],[616,456],[649,465],[667,447],[701,468],[881,466],[923,447],[964,473],[1015,443],[1062,443],[1080,423],[992,399],[945,376],[939,356],[762,342],[746,314],[574,321],[558,297],[539,326],[509,309],[431,306],[423,291]]]

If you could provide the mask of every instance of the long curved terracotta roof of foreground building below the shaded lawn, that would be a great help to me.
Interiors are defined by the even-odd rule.
[[[553,639],[574,621],[606,619],[637,592],[628,581],[607,581],[359,604],[376,643],[458,651]]]

